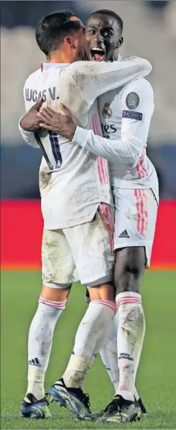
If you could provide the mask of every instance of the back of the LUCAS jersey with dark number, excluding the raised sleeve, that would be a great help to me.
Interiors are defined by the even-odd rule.
[[[43,105],[60,111],[60,72],[65,67],[65,64],[44,63],[42,69],[29,76],[24,88],[27,111],[40,96]],[[91,107],[91,117],[94,116],[97,132],[99,128],[101,133],[97,102]],[[65,228],[88,222],[100,202],[112,203],[105,160],[100,162],[95,155],[55,133],[42,131],[39,137],[53,166],[49,171],[45,158],[42,158],[39,180],[45,228]]]

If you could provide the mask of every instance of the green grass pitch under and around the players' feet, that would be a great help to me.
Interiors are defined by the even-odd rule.
[[[124,429],[176,429],[176,275],[146,272],[142,284],[147,330],[136,387],[149,416]],[[74,336],[86,310],[85,288],[73,286],[71,296],[55,329],[45,389],[64,371]],[[26,390],[27,334],[40,293],[39,272],[2,272],[1,275],[1,429],[96,429],[114,428],[76,422],[64,408],[51,405],[53,419],[31,421],[19,417]],[[114,389],[98,357],[86,377],[93,411],[103,409]],[[122,426],[116,425],[116,429]]]

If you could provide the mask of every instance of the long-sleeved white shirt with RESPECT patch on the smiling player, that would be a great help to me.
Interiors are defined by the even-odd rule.
[[[129,105],[130,99],[131,104],[137,104],[134,109]],[[112,185],[124,189],[151,188],[158,200],[158,178],[146,155],[154,110],[151,84],[144,78],[133,80],[100,96],[98,106],[104,137],[97,136],[96,129],[77,127],[73,143],[109,161]]]

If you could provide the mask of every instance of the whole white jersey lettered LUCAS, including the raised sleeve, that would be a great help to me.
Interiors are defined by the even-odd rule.
[[[44,104],[60,111],[60,102],[71,110],[81,127],[101,134],[96,98],[134,78],[151,72],[147,60],[132,57],[114,63],[76,62],[72,65],[44,63],[25,83],[26,110],[42,96]],[[34,133],[21,129],[34,147]],[[54,230],[91,221],[101,202],[112,204],[108,162],[55,133],[40,133],[51,162],[40,165],[40,194],[45,228]]]

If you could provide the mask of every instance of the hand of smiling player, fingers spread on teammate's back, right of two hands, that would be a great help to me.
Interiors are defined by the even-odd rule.
[[[37,114],[38,118],[41,120],[40,127],[72,140],[77,126],[73,121],[71,112],[62,104],[60,107],[64,112],[63,115],[53,111],[48,106],[43,107],[42,111]]]

